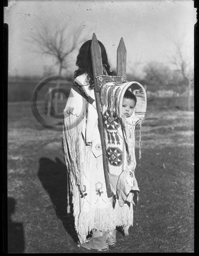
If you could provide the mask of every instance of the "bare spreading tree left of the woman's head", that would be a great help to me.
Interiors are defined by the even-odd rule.
[[[86,35],[82,36],[83,27],[69,30],[69,26],[56,27],[55,29],[43,24],[40,30],[32,33],[31,40],[37,48],[37,52],[52,56],[58,66],[58,75],[62,74],[63,69],[69,67],[67,58],[85,40]],[[57,82],[57,88],[60,82]],[[58,94],[55,95],[55,109],[57,111]]]

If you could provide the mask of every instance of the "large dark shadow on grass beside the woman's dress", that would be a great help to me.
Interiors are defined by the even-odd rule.
[[[71,213],[67,213],[66,165],[57,157],[55,161],[42,157],[39,163],[38,177],[50,196],[56,215],[62,221],[66,232],[77,242],[78,236],[74,227],[73,209],[71,209]],[[69,201],[71,205],[71,196]]]

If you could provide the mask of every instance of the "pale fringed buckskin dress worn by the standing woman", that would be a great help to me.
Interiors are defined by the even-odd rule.
[[[133,204],[134,201],[137,201],[134,199],[139,194],[139,188],[134,176],[136,160],[134,140],[132,140],[130,150],[133,153],[134,167],[130,176],[133,179],[133,184],[129,186],[130,190],[133,187],[133,191],[137,193],[134,193],[133,197],[130,196],[130,191],[125,191],[126,186],[123,180],[125,178],[126,181],[128,174],[123,173],[124,177],[121,176],[120,179],[118,179],[119,174],[115,176],[118,180],[118,187],[116,187],[117,182],[114,181],[114,177],[110,174],[110,183],[114,194],[117,190],[121,191],[117,191],[118,196],[107,197],[94,90],[88,89],[89,83],[86,74],[79,75],[74,82],[78,83],[91,99],[88,103],[75,90],[74,85],[63,111],[63,152],[69,174],[70,192],[73,195],[75,229],[79,241],[84,243],[88,232],[92,229],[111,232],[116,226],[123,226],[128,234],[129,227],[133,225]],[[144,96],[146,101],[146,95]],[[146,109],[146,106],[143,108]],[[134,123],[137,120],[140,120],[140,117],[134,119]],[[133,136],[134,127],[135,125],[133,125]],[[128,198],[129,204],[125,203],[126,198]]]

